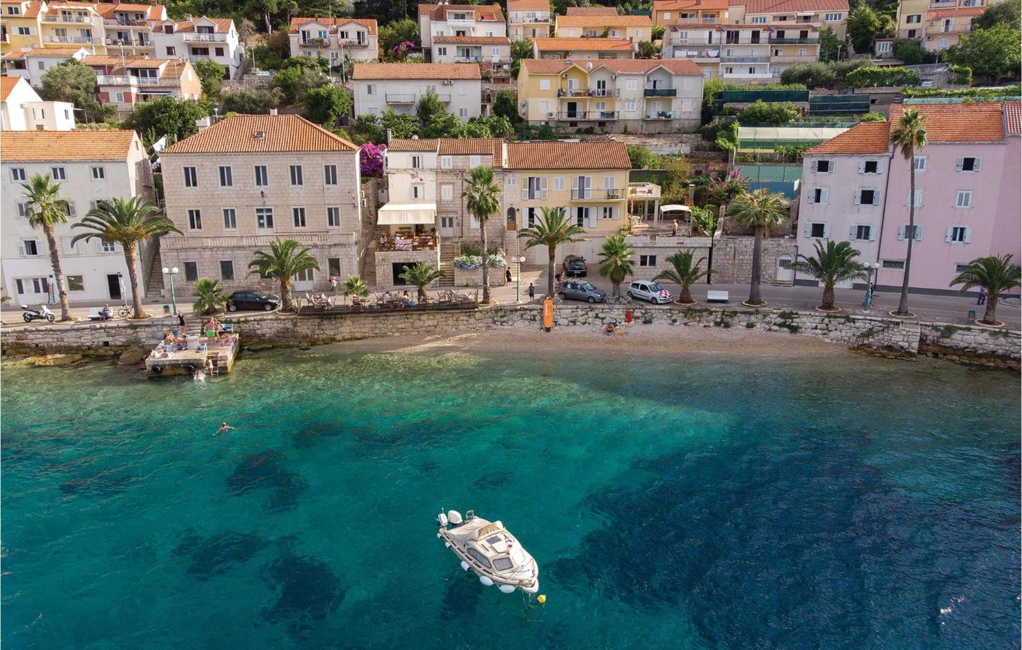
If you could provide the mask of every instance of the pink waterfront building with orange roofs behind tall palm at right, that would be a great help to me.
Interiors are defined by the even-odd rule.
[[[1019,102],[894,104],[891,121],[915,108],[929,144],[916,166],[916,231],[911,285],[956,293],[951,279],[971,260],[1022,259]],[[909,227],[909,164],[889,144],[888,123],[864,123],[805,153],[798,250],[847,240],[864,263],[879,263],[883,288],[901,285]],[[796,278],[815,284],[811,278]]]

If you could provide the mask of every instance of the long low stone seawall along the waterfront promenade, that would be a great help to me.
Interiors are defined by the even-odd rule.
[[[918,323],[851,314],[822,314],[782,310],[717,309],[707,307],[650,307],[559,305],[559,326],[598,327],[610,320],[624,321],[632,310],[635,327],[646,324],[788,331],[809,335],[854,350],[885,356],[914,358],[919,354],[968,364],[1019,368],[1020,333],[943,323]],[[113,356],[129,349],[148,349],[171,319],[145,323],[81,323],[44,325],[8,330],[0,336],[3,355],[39,356],[89,354]],[[244,344],[311,345],[405,334],[428,335],[478,331],[501,327],[539,328],[540,308],[498,306],[464,311],[399,311],[381,313],[309,315],[253,315],[233,318]]]

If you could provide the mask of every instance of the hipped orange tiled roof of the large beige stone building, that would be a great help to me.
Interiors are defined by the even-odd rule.
[[[256,133],[265,133],[257,138]],[[234,115],[172,144],[162,153],[356,151],[358,147],[297,115]]]

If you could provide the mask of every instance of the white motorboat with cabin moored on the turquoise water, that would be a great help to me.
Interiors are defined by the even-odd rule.
[[[500,521],[476,517],[471,510],[464,518],[457,510],[442,510],[436,525],[436,537],[458,556],[461,568],[474,572],[486,587],[497,585],[505,594],[540,591],[536,560]]]

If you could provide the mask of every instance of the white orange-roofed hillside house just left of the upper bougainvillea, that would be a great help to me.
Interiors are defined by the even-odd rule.
[[[287,38],[291,56],[323,56],[330,59],[330,65],[340,65],[345,57],[379,60],[372,18],[291,18]]]

